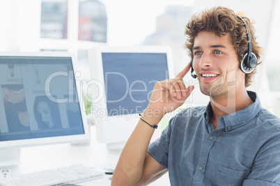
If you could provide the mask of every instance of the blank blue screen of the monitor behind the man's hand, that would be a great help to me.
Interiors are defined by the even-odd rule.
[[[157,81],[169,78],[166,53],[102,53],[109,116],[142,113]]]

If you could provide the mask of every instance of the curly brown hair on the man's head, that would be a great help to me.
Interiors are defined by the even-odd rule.
[[[255,28],[248,17],[242,17],[242,19],[244,19],[244,22],[246,22],[248,26],[249,34],[251,35],[252,52],[255,53],[259,65],[262,49],[258,46],[258,42],[256,42]],[[199,32],[208,31],[215,33],[217,36],[229,33],[231,43],[234,46],[238,55],[238,60],[241,64],[244,54],[248,50],[249,43],[247,39],[247,29],[244,26],[244,22],[238,19],[233,10],[221,6],[204,10],[199,14],[194,14],[191,19],[189,19],[189,23],[185,28],[185,35],[187,35],[185,48],[189,50],[189,56],[192,59],[194,58],[192,48],[194,47],[195,37],[199,34]],[[256,74],[256,69],[254,69],[254,71],[250,74],[245,75],[245,87],[251,85],[254,74]]]

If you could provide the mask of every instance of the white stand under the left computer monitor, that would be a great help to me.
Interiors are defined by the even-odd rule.
[[[20,164],[20,148],[0,149],[0,167],[12,167]]]

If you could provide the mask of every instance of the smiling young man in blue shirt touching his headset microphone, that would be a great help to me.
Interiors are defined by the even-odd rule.
[[[149,146],[155,129],[148,124],[157,125],[194,89],[182,81],[192,67],[156,83],[112,185],[147,185],[166,171],[171,185],[280,185],[280,119],[246,90],[260,59],[251,22],[217,7],[194,15],[185,33],[192,67],[210,103],[173,117]]]

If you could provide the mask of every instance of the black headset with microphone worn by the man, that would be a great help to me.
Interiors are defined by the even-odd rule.
[[[258,65],[258,60],[256,58],[256,55],[254,53],[252,53],[252,43],[251,43],[251,36],[249,33],[249,29],[248,26],[246,24],[246,22],[244,21],[244,19],[242,19],[242,17],[238,16],[238,19],[242,20],[242,22],[244,23],[244,26],[247,30],[247,40],[249,41],[248,43],[248,51],[244,54],[243,60],[240,64],[240,69],[245,73],[245,74],[250,74],[254,68],[256,68],[256,66]],[[194,74],[194,68],[192,67],[192,60],[190,62],[191,65],[191,76],[193,78],[196,78],[196,74]]]

